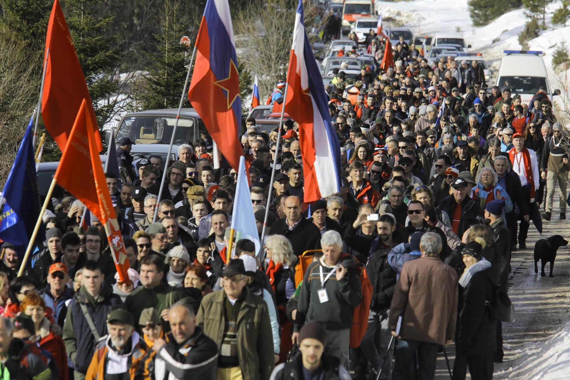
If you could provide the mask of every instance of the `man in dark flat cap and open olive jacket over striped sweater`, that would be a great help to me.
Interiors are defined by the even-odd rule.
[[[267,380],[275,357],[267,304],[246,287],[242,259],[221,273],[223,289],[202,299],[196,323],[218,346],[218,380]]]

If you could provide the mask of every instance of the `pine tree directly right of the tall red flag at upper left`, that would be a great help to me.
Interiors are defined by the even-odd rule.
[[[97,15],[98,0],[67,0],[64,14],[70,29],[79,63],[87,81],[97,123],[103,126],[116,105],[113,95],[118,82],[114,77],[121,55],[116,48],[116,37],[106,30],[114,16]]]

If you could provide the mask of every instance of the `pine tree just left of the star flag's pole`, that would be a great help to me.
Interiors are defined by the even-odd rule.
[[[188,46],[180,43],[182,35],[186,32],[186,25],[188,25],[183,21],[183,15],[184,8],[180,1],[165,2],[161,22],[162,30],[160,34],[154,35],[156,52],[148,54],[151,66],[146,69],[149,76],[143,95],[147,109],[178,108],[180,104],[180,96],[188,71],[186,65],[190,59]],[[189,107],[186,97],[182,107]]]

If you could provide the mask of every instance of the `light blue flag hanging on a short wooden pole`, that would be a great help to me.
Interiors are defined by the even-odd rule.
[[[231,214],[231,228],[234,230],[235,241],[249,239],[255,244],[255,252],[259,252],[259,234],[253,205],[249,192],[249,176],[246,172],[245,157],[239,158],[238,182],[235,185],[234,209]]]

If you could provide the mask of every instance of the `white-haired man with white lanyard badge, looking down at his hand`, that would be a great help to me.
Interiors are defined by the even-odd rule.
[[[305,322],[317,320],[327,327],[327,348],[340,358],[348,359],[352,314],[363,299],[359,265],[352,255],[343,254],[339,232],[327,231],[321,238],[323,256],[307,268],[301,285],[295,317],[293,342]]]

